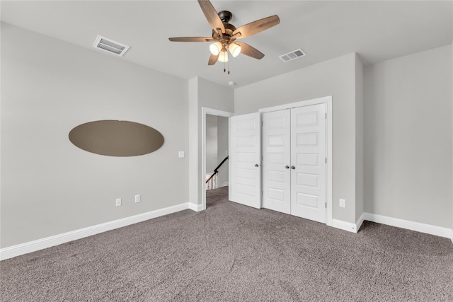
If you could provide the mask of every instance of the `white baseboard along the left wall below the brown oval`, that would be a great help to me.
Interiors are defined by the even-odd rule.
[[[149,219],[153,219],[159,216],[164,216],[171,213],[176,213],[178,211],[183,211],[185,209],[192,209],[189,202],[183,204],[177,204],[176,206],[166,207],[164,209],[158,209],[155,211],[149,211],[147,213],[138,214],[122,219],[117,219],[114,221],[109,221],[106,223],[97,224],[96,226],[88,226],[87,228],[81,228],[79,230],[70,231],[67,233],[62,233],[55,236],[50,236],[38,240],[33,240],[28,243],[21,243],[18,245],[13,245],[8,248],[0,249],[0,260],[5,260],[8,258],[16,257],[19,255],[27,254],[28,252],[35,252],[37,250],[42,250],[45,248],[50,248],[54,245],[59,245],[62,243],[67,243],[69,241],[77,240],[80,238],[93,236],[98,233],[103,233],[105,231],[110,231],[115,228],[122,228],[123,226],[129,226],[134,223],[139,223]],[[195,206],[197,206],[195,204]],[[194,210],[195,211],[195,210]]]

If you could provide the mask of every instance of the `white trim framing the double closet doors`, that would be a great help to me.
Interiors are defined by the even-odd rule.
[[[278,111],[278,110],[287,110],[291,108],[297,108],[297,107],[304,107],[304,106],[309,106],[309,105],[317,105],[317,104],[326,104],[326,113],[327,113],[327,119],[326,119],[326,147],[327,147],[327,170],[326,170],[326,225],[327,226],[332,226],[333,223],[333,217],[332,217],[332,211],[333,211],[333,203],[332,203],[332,173],[333,173],[333,156],[332,156],[332,95],[328,95],[322,98],[314,98],[312,100],[302,100],[294,103],[287,103],[283,105],[277,105],[273,107],[268,107],[268,108],[263,108],[258,110],[260,112],[260,115],[262,115],[264,112],[273,112],[273,111]],[[263,132],[261,132],[263,133]],[[261,140],[263,141],[263,140]],[[261,146],[261,149],[263,149],[263,146]],[[263,175],[261,175],[261,179],[263,179]],[[261,201],[263,202],[263,201]]]

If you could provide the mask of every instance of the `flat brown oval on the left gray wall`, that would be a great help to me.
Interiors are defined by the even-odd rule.
[[[69,132],[72,144],[85,151],[108,156],[138,156],[161,148],[161,132],[146,124],[100,120],[80,124]]]

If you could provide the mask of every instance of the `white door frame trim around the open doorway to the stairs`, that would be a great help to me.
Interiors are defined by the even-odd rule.
[[[206,209],[206,182],[205,182],[205,170],[206,170],[206,115],[215,115],[217,117],[232,117],[234,113],[218,110],[214,108],[201,108],[201,209],[200,211],[204,211]],[[228,129],[228,141],[229,141],[229,129]],[[229,151],[228,151],[229,153]]]

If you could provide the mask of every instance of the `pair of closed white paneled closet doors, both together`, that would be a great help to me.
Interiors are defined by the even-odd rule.
[[[326,223],[326,104],[263,113],[263,207]]]

